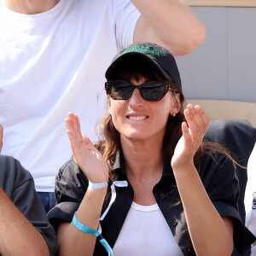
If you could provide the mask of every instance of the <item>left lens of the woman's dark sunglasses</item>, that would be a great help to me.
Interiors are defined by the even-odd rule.
[[[109,95],[115,100],[127,100],[131,97],[133,87],[131,84],[125,84],[124,81],[114,81],[109,86]]]

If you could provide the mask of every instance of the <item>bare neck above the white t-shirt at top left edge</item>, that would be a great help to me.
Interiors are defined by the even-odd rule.
[[[36,15],[55,7],[60,0],[5,0],[8,9],[19,14]]]

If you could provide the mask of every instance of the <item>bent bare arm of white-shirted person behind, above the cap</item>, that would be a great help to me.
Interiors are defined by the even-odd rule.
[[[137,21],[134,43],[150,41],[172,55],[185,55],[206,37],[206,28],[184,0],[131,0],[142,16]]]

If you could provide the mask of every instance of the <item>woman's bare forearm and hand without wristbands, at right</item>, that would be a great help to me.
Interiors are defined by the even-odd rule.
[[[207,130],[208,119],[199,106],[185,110],[189,129],[183,123],[183,137],[177,143],[172,168],[177,189],[183,202],[189,236],[195,253],[201,255],[230,255],[233,250],[233,222],[221,218],[201,183],[193,156]]]

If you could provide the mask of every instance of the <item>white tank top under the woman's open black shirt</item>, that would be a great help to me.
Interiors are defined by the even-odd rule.
[[[183,256],[157,204],[132,202],[113,246],[115,256]]]

